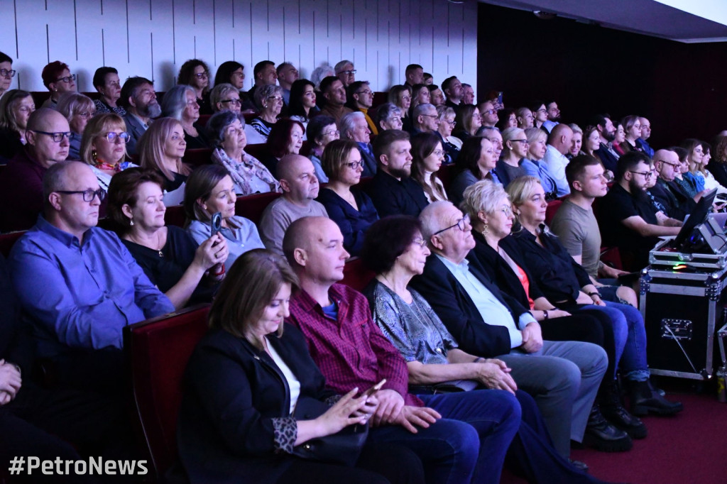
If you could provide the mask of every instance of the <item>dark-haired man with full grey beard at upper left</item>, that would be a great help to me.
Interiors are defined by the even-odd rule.
[[[156,100],[154,84],[147,78],[130,77],[121,87],[119,105],[126,109],[124,123],[129,133],[129,142],[126,143],[126,153],[129,156],[136,154],[136,145],[142,134],[149,129],[153,118],[161,116],[161,106]]]

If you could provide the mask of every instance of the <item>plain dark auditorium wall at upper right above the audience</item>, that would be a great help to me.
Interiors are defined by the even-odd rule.
[[[480,4],[478,92],[518,108],[553,97],[563,119],[640,114],[652,146],[727,129],[727,43],[683,44]]]

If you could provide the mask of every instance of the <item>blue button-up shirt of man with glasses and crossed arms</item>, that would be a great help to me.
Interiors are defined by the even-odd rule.
[[[81,245],[41,215],[13,246],[9,265],[40,357],[121,348],[124,326],[174,311],[119,237],[98,227]]]

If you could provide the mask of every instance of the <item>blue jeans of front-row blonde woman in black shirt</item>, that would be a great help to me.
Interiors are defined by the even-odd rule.
[[[616,343],[616,363],[624,377],[637,382],[648,380],[646,328],[638,309],[629,304],[606,301],[606,306],[589,304],[582,309],[605,312],[611,318]]]

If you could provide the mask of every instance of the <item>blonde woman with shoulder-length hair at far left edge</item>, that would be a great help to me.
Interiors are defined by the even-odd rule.
[[[28,91],[10,89],[0,97],[0,157],[8,160],[25,145],[28,118],[36,103]]]

